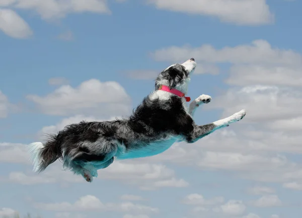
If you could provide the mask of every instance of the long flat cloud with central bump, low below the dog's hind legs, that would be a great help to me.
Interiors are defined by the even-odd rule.
[[[34,207],[52,211],[120,211],[120,212],[136,212],[136,213],[157,213],[159,209],[156,207],[145,206],[142,204],[134,204],[132,202],[121,203],[103,203],[93,195],[80,197],[74,203],[34,203]]]

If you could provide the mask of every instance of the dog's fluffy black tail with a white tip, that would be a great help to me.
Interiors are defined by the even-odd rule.
[[[62,156],[56,137],[52,137],[45,144],[42,142],[31,143],[28,145],[28,150],[31,154],[33,171],[38,173]]]

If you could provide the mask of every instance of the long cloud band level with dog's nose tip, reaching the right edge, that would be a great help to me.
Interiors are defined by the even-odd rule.
[[[300,66],[302,55],[293,51],[272,47],[269,42],[259,39],[251,44],[216,49],[209,44],[158,49],[152,53],[158,61],[183,61],[194,57],[196,61],[208,63],[258,64],[279,66]],[[198,65],[197,65],[198,66]],[[197,68],[196,68],[197,70]]]

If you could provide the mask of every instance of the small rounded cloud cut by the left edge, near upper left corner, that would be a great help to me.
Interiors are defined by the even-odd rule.
[[[10,9],[0,9],[0,30],[17,39],[28,38],[33,34],[26,21]]]

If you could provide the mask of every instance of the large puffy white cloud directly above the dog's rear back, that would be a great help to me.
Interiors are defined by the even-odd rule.
[[[49,115],[121,115],[130,110],[130,97],[114,81],[100,82],[92,79],[73,88],[64,85],[47,96],[28,95],[41,111]]]

